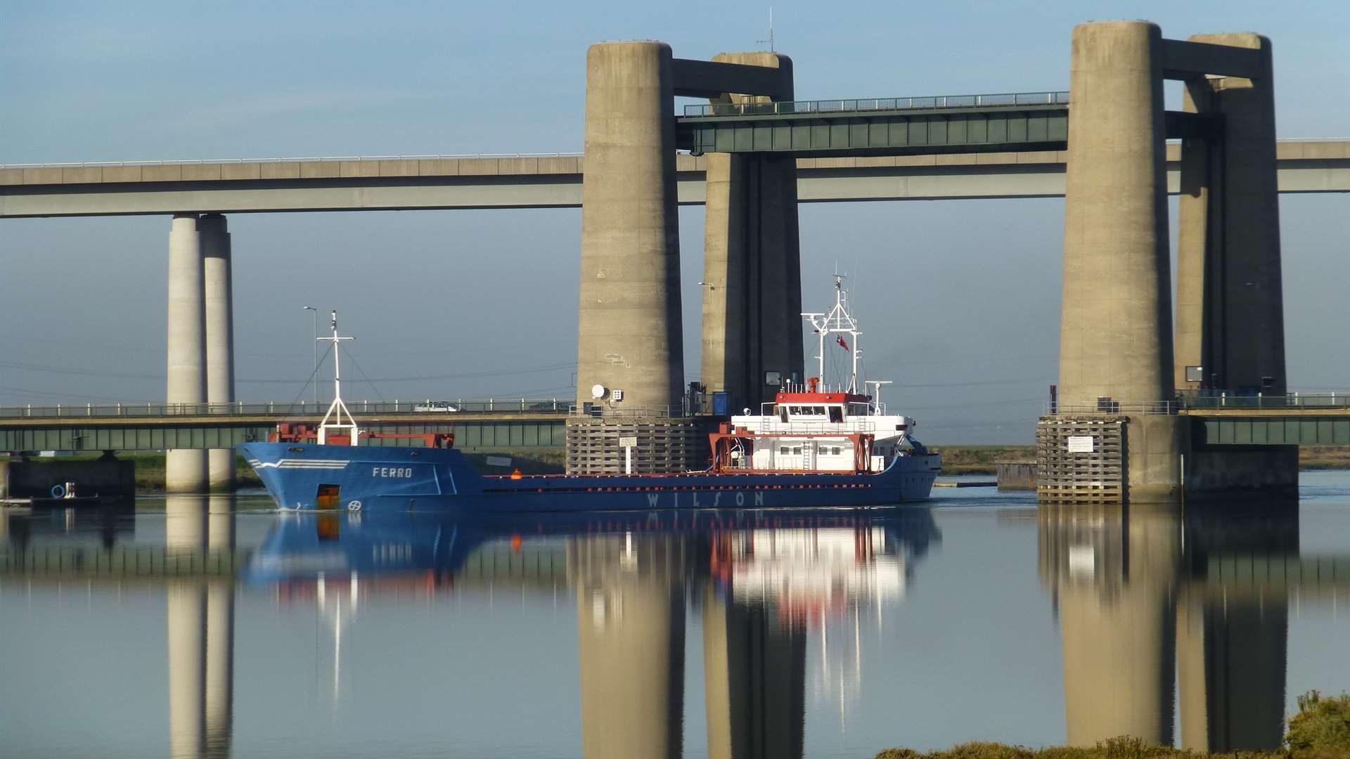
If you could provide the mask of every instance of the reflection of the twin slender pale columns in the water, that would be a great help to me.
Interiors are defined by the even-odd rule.
[[[235,550],[232,496],[167,496],[169,745],[178,758],[228,756],[234,731],[235,583],[194,571]]]

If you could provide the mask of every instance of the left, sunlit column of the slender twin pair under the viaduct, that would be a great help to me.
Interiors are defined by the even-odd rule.
[[[169,232],[169,371],[165,400],[192,407],[207,400],[207,311],[197,224],[196,213],[177,213]],[[166,452],[165,490],[202,493],[205,489],[205,451]]]

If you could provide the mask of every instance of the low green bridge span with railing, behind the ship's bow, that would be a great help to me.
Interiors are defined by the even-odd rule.
[[[567,405],[525,398],[489,411],[417,412],[413,404],[350,404],[363,429],[385,434],[454,432],[455,447],[562,447]],[[401,408],[396,408],[401,407]],[[556,409],[556,411],[555,411]],[[278,423],[317,425],[313,404],[116,404],[0,407],[0,451],[161,451],[232,448],[266,440]],[[420,440],[374,439],[375,446],[420,446]]]

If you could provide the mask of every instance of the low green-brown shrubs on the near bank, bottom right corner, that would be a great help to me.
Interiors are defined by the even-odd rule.
[[[1134,737],[1114,737],[1089,748],[1056,745],[1026,748],[1002,743],[963,743],[944,751],[887,748],[876,759],[1331,759],[1350,756],[1350,696],[1328,698],[1316,690],[1299,697],[1299,713],[1289,717],[1285,748],[1206,754],[1170,745],[1150,745]]]

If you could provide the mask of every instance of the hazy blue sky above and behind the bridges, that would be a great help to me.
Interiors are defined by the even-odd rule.
[[[1068,88],[1076,23],[1112,19],[1265,34],[1280,136],[1350,135],[1343,3],[776,1],[774,38],[799,99],[1035,92]],[[0,163],[580,151],[590,43],[706,59],[767,36],[767,3],[7,0]],[[1345,203],[1281,197],[1293,389],[1350,389]],[[240,400],[309,397],[302,305],[358,338],[348,398],[574,394],[579,209],[230,228]],[[0,221],[0,405],[163,398],[167,232],[159,216]],[[803,204],[803,308],[850,273],[867,373],[895,382],[886,400],[921,439],[1029,443],[1057,375],[1062,236],[1053,199]],[[702,208],[682,208],[691,380],[702,240]]]

